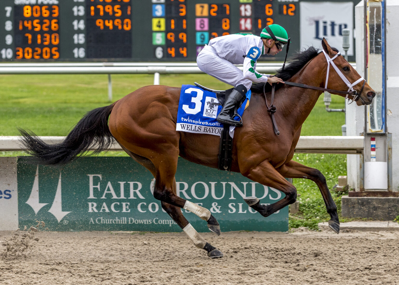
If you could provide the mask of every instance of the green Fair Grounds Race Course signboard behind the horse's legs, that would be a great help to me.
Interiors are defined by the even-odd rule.
[[[153,197],[150,172],[129,157],[83,157],[62,168],[26,160],[17,163],[20,228],[43,221],[54,231],[181,231]],[[284,194],[239,173],[179,158],[176,186],[180,197],[209,209],[222,231],[288,230],[288,207],[264,218],[242,199],[271,204]],[[182,211],[198,232],[208,232],[205,221]]]

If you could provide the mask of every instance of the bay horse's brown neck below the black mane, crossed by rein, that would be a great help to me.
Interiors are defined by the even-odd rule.
[[[317,56],[316,56],[317,57]],[[320,87],[324,83],[324,64],[316,58],[310,60],[288,81]],[[324,86],[323,86],[324,87]],[[300,128],[309,116],[322,91],[285,85],[276,92],[277,109],[291,121],[294,129]],[[277,101],[277,100],[276,100]]]

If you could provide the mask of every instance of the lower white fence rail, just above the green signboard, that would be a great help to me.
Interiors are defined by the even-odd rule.
[[[40,137],[45,143],[60,143],[65,137]],[[340,153],[362,154],[364,137],[341,136],[301,136],[296,145],[298,153]],[[25,150],[18,137],[0,137],[0,150]],[[122,150],[119,144],[114,144],[109,150]]]

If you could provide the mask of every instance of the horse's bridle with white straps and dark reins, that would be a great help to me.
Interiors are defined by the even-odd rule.
[[[284,81],[284,84],[297,86],[297,87],[303,87],[303,88],[309,88],[309,89],[316,89],[316,90],[321,90],[321,91],[327,91],[327,92],[330,92],[330,93],[346,94],[345,98],[348,98],[348,95],[352,95],[353,98],[350,99],[350,100],[352,100],[350,103],[352,103],[353,101],[357,101],[360,98],[361,92],[363,92],[364,85],[366,84],[365,79],[363,77],[360,77],[358,80],[356,80],[354,83],[351,84],[350,81],[345,77],[344,74],[342,74],[340,69],[338,69],[338,67],[333,62],[333,60],[336,59],[336,57],[338,57],[338,55],[341,55],[341,53],[338,51],[338,53],[336,55],[334,55],[334,57],[330,57],[324,50],[323,50],[323,53],[324,53],[324,56],[326,57],[326,60],[327,60],[327,75],[326,75],[326,84],[324,85],[324,88],[316,87],[316,86],[310,86],[310,85],[306,85],[306,84],[295,83],[295,82],[290,82],[290,81]],[[348,88],[349,88],[348,91],[340,91],[340,90],[334,90],[334,89],[327,88],[328,75],[330,73],[330,64],[332,65],[332,67],[334,67],[335,71],[338,73],[338,75],[340,75],[341,79],[348,86]],[[358,84],[359,82],[361,82],[361,81],[363,81],[363,85],[361,86],[360,92],[358,93],[358,91],[353,89],[353,87],[356,84]],[[273,130],[274,130],[275,134],[278,136],[278,135],[280,135],[280,132],[279,132],[279,129],[277,127],[276,119],[274,117],[274,113],[277,111],[277,108],[276,108],[275,105],[273,105],[273,99],[274,99],[276,83],[272,84],[272,94],[271,94],[270,107],[269,107],[269,105],[267,105],[265,86],[266,86],[266,83],[265,83],[265,85],[263,85],[263,94],[265,95],[265,102],[266,102],[267,111],[269,112],[269,114],[270,114],[270,116],[272,118]],[[350,103],[348,103],[348,104],[350,104]]]

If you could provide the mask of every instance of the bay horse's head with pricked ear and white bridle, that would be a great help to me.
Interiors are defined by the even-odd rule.
[[[339,51],[330,47],[325,38],[322,40],[322,46],[328,66],[325,88],[342,91],[348,89],[352,93],[347,95],[347,97],[356,101],[358,106],[371,104],[375,96],[375,91],[371,89],[352,65],[340,55]],[[338,95],[344,96],[342,94]]]

